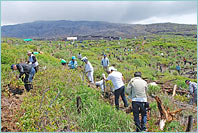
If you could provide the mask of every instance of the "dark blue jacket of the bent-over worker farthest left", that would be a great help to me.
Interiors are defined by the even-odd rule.
[[[17,70],[20,72],[19,78],[21,78],[23,74],[29,74],[32,70],[32,65],[29,65],[29,64],[20,63],[20,64],[17,64],[16,67],[17,67]]]

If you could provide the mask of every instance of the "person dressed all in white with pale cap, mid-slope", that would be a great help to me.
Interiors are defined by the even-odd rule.
[[[91,63],[88,61],[87,57],[83,57],[81,60],[85,62],[85,73],[87,73],[89,82],[94,83],[94,78],[93,78],[94,69]]]

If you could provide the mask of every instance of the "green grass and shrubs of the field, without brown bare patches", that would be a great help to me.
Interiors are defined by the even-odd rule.
[[[100,90],[87,87],[87,83],[83,84],[81,81],[82,72],[80,70],[68,70],[60,65],[60,58],[65,59],[67,62],[71,60],[71,57],[77,56],[80,52],[82,56],[88,57],[94,67],[94,79],[98,81],[101,79],[102,73],[104,73],[101,67],[101,60],[98,57],[102,57],[103,51],[105,54],[115,53],[116,56],[122,56],[122,62],[119,62],[111,55],[110,64],[115,64],[115,68],[120,71],[126,81],[126,84],[133,77],[135,71],[141,71],[142,77],[148,80],[158,80],[160,82],[166,82],[168,80],[176,79],[172,81],[172,84],[177,84],[182,89],[188,89],[188,86],[184,83],[188,77],[184,77],[178,74],[171,74],[168,71],[161,73],[156,69],[156,64],[173,63],[171,69],[175,69],[175,61],[182,62],[182,59],[175,56],[180,54],[187,58],[190,57],[192,50],[196,51],[196,40],[192,40],[190,37],[179,37],[176,40],[172,36],[166,36],[166,43],[161,39],[161,36],[155,36],[154,39],[148,39],[144,46],[139,46],[139,50],[135,48],[137,44],[141,44],[142,40],[123,39],[121,41],[83,41],[78,45],[78,48],[74,48],[72,45],[67,45],[62,41],[33,41],[24,43],[21,39],[9,38],[13,40],[13,44],[2,43],[2,58],[1,58],[1,71],[2,71],[2,86],[7,85],[12,81],[14,86],[23,86],[23,83],[17,81],[14,78],[14,74],[11,73],[10,66],[14,63],[27,60],[27,51],[42,51],[43,54],[36,55],[40,64],[40,71],[36,73],[33,84],[34,89],[30,93],[27,93],[24,97],[24,101],[18,110],[17,126],[22,131],[59,131],[60,129],[67,128],[68,131],[82,131],[82,132],[133,132],[135,131],[135,125],[133,122],[133,116],[126,114],[123,111],[116,111],[114,106],[111,106],[108,102],[105,102],[101,98]],[[86,43],[84,43],[86,42]],[[120,42],[120,44],[118,44]],[[58,43],[62,45],[62,48],[57,48]],[[88,46],[89,43],[94,46]],[[19,44],[19,45],[15,45]],[[85,45],[86,48],[80,47]],[[125,56],[124,48],[132,48],[132,52],[125,52],[128,55]],[[162,48],[160,48],[162,47]],[[176,47],[176,48],[175,48]],[[109,48],[110,50],[107,50]],[[116,51],[116,48],[119,50]],[[184,48],[184,50],[182,50]],[[177,49],[177,51],[175,51]],[[185,52],[189,50],[189,52]],[[170,53],[168,57],[166,52]],[[164,57],[160,55],[164,53]],[[174,57],[175,56],[175,57]],[[197,56],[192,57],[196,60]],[[78,64],[83,65],[79,60]],[[150,64],[150,66],[149,66]],[[43,70],[42,67],[47,66],[47,70]],[[164,75],[158,78],[159,75]],[[196,81],[196,79],[190,79]],[[43,99],[42,106],[40,103],[44,90],[50,88],[46,92]],[[5,89],[5,88],[3,88]],[[49,107],[51,100],[53,100],[59,93],[58,98]],[[172,104],[172,99],[165,94],[161,93],[160,87],[149,86],[148,93],[158,95],[163,104],[169,107],[170,110],[177,109]],[[6,94],[4,92],[4,94]],[[78,114],[76,107],[76,97],[80,96],[82,99],[83,108],[81,113]],[[174,97],[178,101],[187,101],[185,96],[176,95]],[[160,132],[158,125],[155,122],[158,120],[159,112],[155,101],[150,103],[152,108],[152,119],[149,123],[149,131]],[[48,112],[46,115],[45,113]],[[186,111],[184,115],[192,114],[192,112]],[[19,117],[20,116],[20,117]],[[41,124],[40,124],[41,123]],[[183,131],[183,128],[179,128],[180,125],[177,121],[167,124],[164,132],[168,131]]]

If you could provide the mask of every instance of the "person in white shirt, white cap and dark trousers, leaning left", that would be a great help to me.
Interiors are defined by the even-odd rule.
[[[105,74],[103,74],[104,80],[111,80],[113,83],[113,92],[115,95],[115,106],[116,109],[119,110],[119,97],[121,96],[122,101],[124,102],[124,107],[128,107],[128,103],[125,97],[125,85],[124,85],[124,77],[122,73],[118,72],[113,66],[108,69],[109,75],[106,78]]]

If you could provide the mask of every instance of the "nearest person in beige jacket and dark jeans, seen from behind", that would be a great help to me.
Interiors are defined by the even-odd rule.
[[[132,110],[134,121],[136,125],[136,132],[146,131],[147,122],[147,82],[141,78],[141,72],[135,72],[134,78],[129,82],[126,93],[129,94],[129,98],[132,99]],[[139,113],[142,120],[140,123]]]

